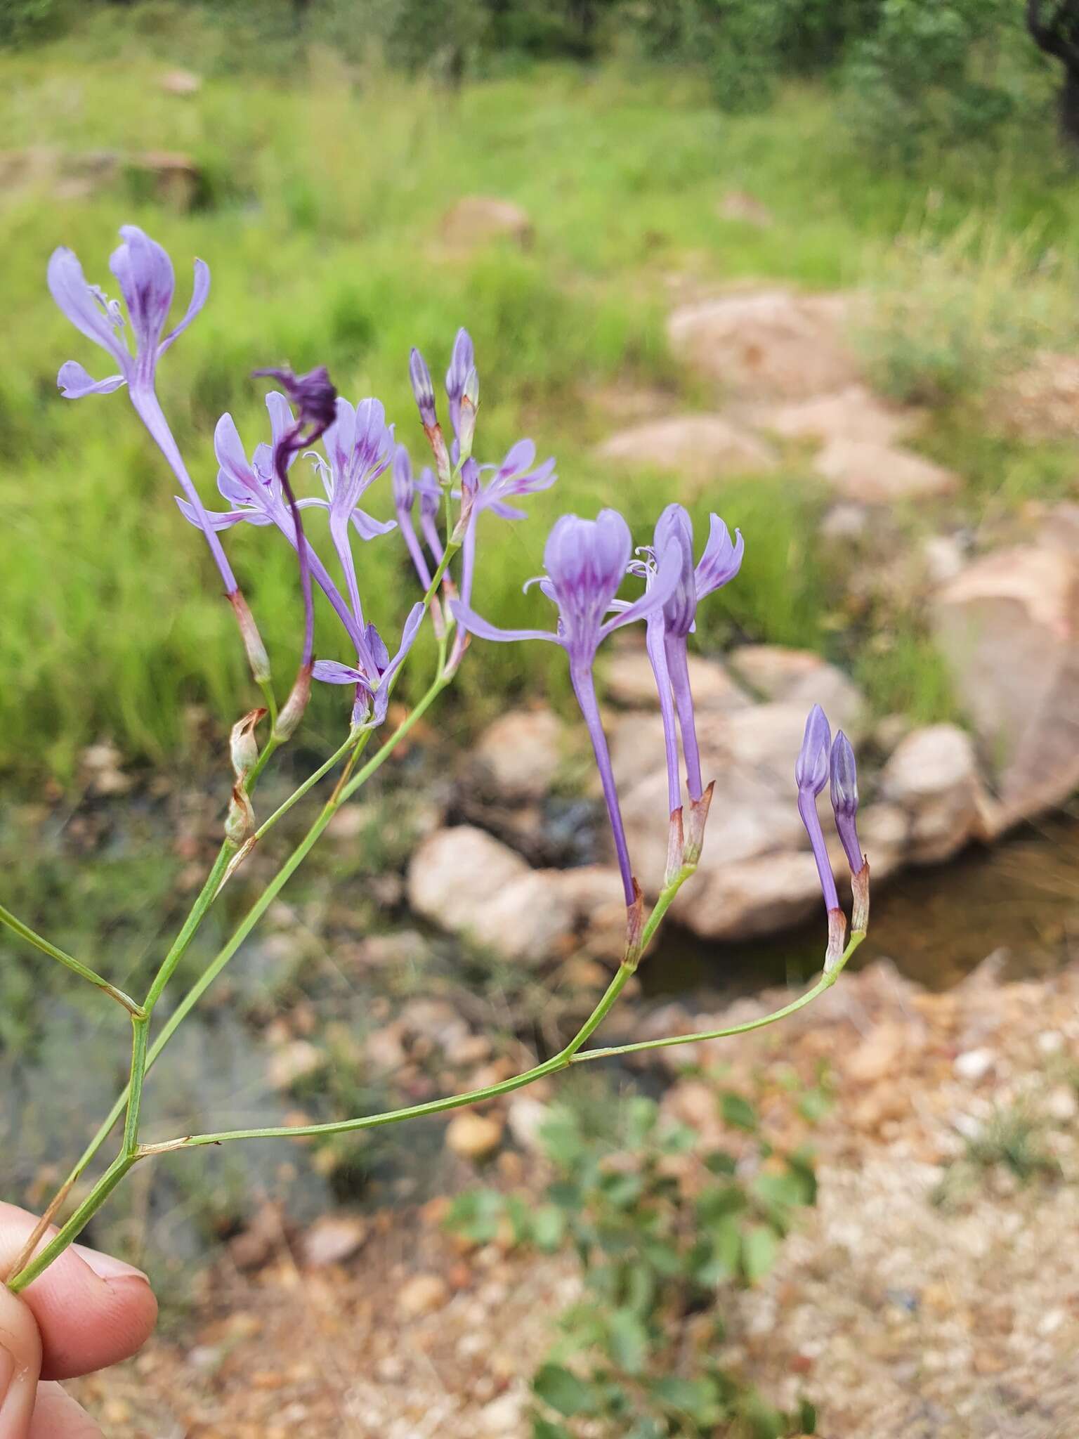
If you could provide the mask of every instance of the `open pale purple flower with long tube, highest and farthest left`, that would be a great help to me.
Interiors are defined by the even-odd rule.
[[[121,384],[128,386],[131,403],[180,481],[180,486],[197,517],[196,522],[206,535],[226,594],[233,599],[237,594],[236,576],[213,525],[206,517],[199,491],[187,473],[187,466],[154,391],[157,361],[177,335],[187,330],[206,304],[206,296],[210,294],[210,271],[203,260],[194,262],[194,286],[187,314],[178,325],[163,335],[176,291],[173,262],[165,250],[137,224],[121,226],[119,235],[124,243],[112,252],[109,269],[124,296],[127,317],[119,301],[109,299],[99,285],[91,285],[86,281],[82,265],[72,250],[63,248],[53,250],[49,259],[47,279],[52,298],[75,328],[101,345],[119,368],[118,374],[95,380],[78,360],[68,360],[66,364],[60,366],[56,383],[68,400],[79,400],[88,394],[109,394]],[[128,330],[134,338],[134,351],[128,340]],[[249,623],[253,626],[250,616]],[[259,646],[260,643],[258,640]],[[265,655],[265,650],[262,653]]]

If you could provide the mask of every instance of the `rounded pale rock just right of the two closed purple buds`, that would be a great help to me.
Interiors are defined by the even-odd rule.
[[[889,758],[880,793],[911,816],[909,858],[948,859],[984,833],[987,800],[970,735],[951,724],[915,730]]]

